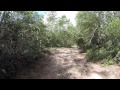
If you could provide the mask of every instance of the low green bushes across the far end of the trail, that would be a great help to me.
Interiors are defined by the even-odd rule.
[[[47,47],[71,47],[75,39],[69,31],[47,32]]]

